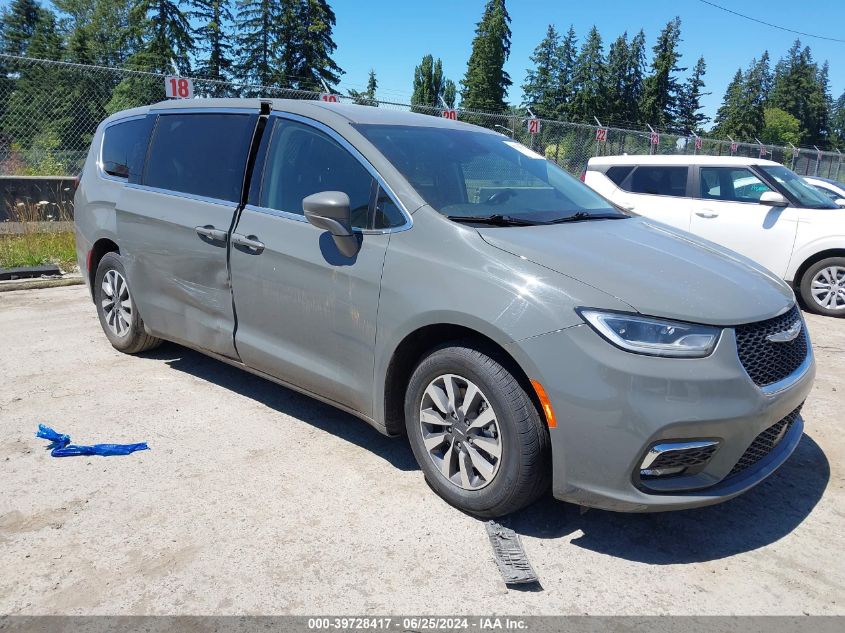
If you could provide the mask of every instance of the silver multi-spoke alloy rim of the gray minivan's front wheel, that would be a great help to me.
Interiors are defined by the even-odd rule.
[[[496,412],[470,380],[444,374],[429,383],[420,403],[420,431],[437,470],[459,488],[479,490],[499,472],[503,446]]]

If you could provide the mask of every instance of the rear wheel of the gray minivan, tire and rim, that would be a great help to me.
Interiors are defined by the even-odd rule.
[[[126,269],[117,253],[106,253],[97,266],[94,302],[100,326],[115,349],[137,354],[161,345],[161,339],[144,331],[144,322],[129,289]]]

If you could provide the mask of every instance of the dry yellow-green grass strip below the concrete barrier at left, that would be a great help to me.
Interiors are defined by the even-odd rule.
[[[13,232],[0,232],[0,268],[56,264],[64,272],[76,269],[76,240],[67,230],[73,220],[69,209],[47,202],[17,203],[8,216]]]

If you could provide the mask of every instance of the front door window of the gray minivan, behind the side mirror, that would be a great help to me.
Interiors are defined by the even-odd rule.
[[[279,119],[273,131],[259,205],[302,215],[302,199],[321,191],[349,196],[352,225],[367,228],[373,177],[334,139]]]

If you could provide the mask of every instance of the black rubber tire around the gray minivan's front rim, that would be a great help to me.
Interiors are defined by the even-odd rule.
[[[551,480],[548,429],[525,387],[507,369],[507,361],[499,362],[496,356],[468,342],[443,345],[420,361],[405,395],[408,438],[429,485],[451,505],[485,518],[504,516],[529,505],[546,492]],[[501,459],[489,483],[477,490],[464,489],[447,479],[423,443],[420,406],[424,392],[445,374],[472,381],[495,412]],[[478,475],[479,471],[473,472]]]

